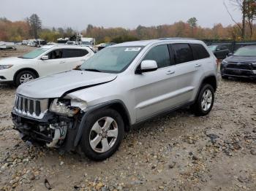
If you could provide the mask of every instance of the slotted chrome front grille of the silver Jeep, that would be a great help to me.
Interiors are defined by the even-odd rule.
[[[16,95],[14,109],[19,114],[42,119],[48,111],[48,99],[34,99]]]

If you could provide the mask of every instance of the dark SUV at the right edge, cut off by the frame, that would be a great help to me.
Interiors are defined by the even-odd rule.
[[[220,71],[223,79],[246,77],[256,79],[256,46],[241,47],[222,61]]]

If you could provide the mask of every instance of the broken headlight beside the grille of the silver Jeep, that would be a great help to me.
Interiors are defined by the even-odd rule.
[[[65,114],[69,117],[74,116],[80,111],[80,108],[75,106],[70,106],[70,100],[56,98],[53,103],[50,104],[50,112],[56,112],[59,114]]]

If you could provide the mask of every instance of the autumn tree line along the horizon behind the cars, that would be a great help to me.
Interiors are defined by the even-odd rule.
[[[226,1],[241,12],[241,20],[235,20]],[[127,42],[138,39],[158,39],[164,37],[187,37],[196,39],[230,39],[230,40],[256,40],[255,0],[226,0],[224,6],[234,24],[222,26],[215,24],[212,28],[203,28],[197,24],[197,18],[191,17],[187,22],[178,21],[171,25],[138,26],[135,29],[104,28],[89,24],[81,33],[83,36],[94,37],[97,43],[101,42]],[[23,39],[45,39],[47,42],[56,42],[58,38],[75,35],[72,28],[42,28],[42,20],[37,14],[25,20],[12,22],[7,18],[0,18],[0,41],[20,42]]]

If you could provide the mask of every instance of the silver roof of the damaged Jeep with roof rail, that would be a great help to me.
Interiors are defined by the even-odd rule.
[[[124,47],[124,46],[142,46],[146,47],[148,44],[155,44],[159,42],[201,42],[197,39],[189,38],[162,38],[162,39],[151,39],[151,40],[141,40],[141,41],[132,41],[124,42],[120,44],[115,44],[111,47]]]

